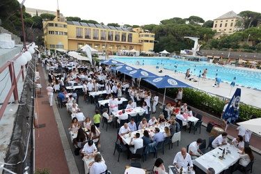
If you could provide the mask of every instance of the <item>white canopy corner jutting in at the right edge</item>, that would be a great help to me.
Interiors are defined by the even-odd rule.
[[[245,127],[246,129],[261,135],[261,118],[255,118],[244,122],[237,122],[238,125]]]

